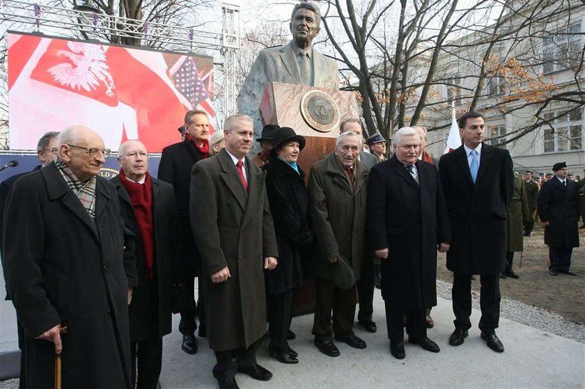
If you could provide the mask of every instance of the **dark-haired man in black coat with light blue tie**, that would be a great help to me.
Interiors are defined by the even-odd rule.
[[[453,242],[447,269],[453,271],[455,331],[449,344],[458,346],[471,328],[471,276],[481,275],[481,338],[497,352],[499,273],[506,260],[506,218],[513,193],[512,159],[507,150],[483,143],[485,123],[476,111],[458,120],[463,145],[439,161],[439,175],[449,210]]]

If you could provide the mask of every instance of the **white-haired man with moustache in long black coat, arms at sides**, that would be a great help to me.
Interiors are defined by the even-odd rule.
[[[437,168],[419,161],[419,134],[405,127],[394,135],[394,155],[370,170],[367,236],[382,258],[382,297],[391,353],[405,358],[403,312],[410,343],[439,352],[426,334],[426,309],[437,305],[437,248],[451,241]],[[412,170],[412,172],[410,171]]]

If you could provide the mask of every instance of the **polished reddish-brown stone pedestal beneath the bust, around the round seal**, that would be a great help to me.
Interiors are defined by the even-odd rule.
[[[302,100],[311,90],[327,93],[337,105],[338,120],[329,126],[330,129],[317,130],[309,124],[310,120],[304,118]],[[305,137],[306,144],[297,163],[306,173],[306,180],[309,180],[311,166],[335,149],[339,123],[346,118],[359,118],[357,99],[352,92],[281,82],[270,82],[266,86],[259,109],[263,125],[290,127],[298,135]],[[302,315],[314,310],[315,283],[309,280],[297,291],[293,315]]]

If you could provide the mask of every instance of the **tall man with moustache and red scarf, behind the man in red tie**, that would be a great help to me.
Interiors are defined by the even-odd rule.
[[[194,164],[209,156],[209,120],[205,111],[192,110],[185,113],[185,139],[162,150],[158,178],[169,182],[175,189],[182,231],[182,253],[180,254],[181,284],[185,292],[185,307],[181,310],[179,331],[183,335],[181,349],[187,354],[197,352],[195,330],[197,323],[194,278],[201,275],[201,257],[193,239],[189,220],[189,191],[191,169]],[[201,289],[200,289],[201,290]],[[199,335],[205,336],[203,299],[199,294]]]

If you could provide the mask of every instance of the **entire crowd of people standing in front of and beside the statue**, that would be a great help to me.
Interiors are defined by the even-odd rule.
[[[514,173],[509,152],[484,142],[481,113],[458,125],[462,146],[437,159],[423,127],[398,129],[388,152],[381,134],[365,138],[361,120],[345,118],[334,148],[305,172],[297,161],[306,139],[294,129],[266,125],[261,151],[249,156],[249,116],[229,116],[210,135],[207,114],[194,110],[182,140],[162,151],[157,178],[146,147],[130,140],[109,182],[100,168],[111,151],[99,134],[81,126],[45,134],[42,165],[0,185],[20,386],[52,386],[58,354],[63,388],[156,388],[173,313],[182,351],[198,351],[197,328],[207,338],[220,388],[237,388],[237,373],[267,381],[272,373],[256,360],[266,333],[272,358],[302,358],[290,347],[290,324],[295,291],[309,279],[322,354],[339,356],[339,342],[366,349],[353,331],[355,311],[360,326],[377,331],[375,287],[390,354],[406,357],[404,327],[409,344],[438,353],[427,334],[437,252],[453,272],[448,343],[459,347],[469,335],[479,276],[481,339],[503,352],[499,280],[520,278],[514,253],[536,221],[545,226],[550,275],[576,275],[570,259],[585,180],[572,180],[564,162],[547,180]]]

